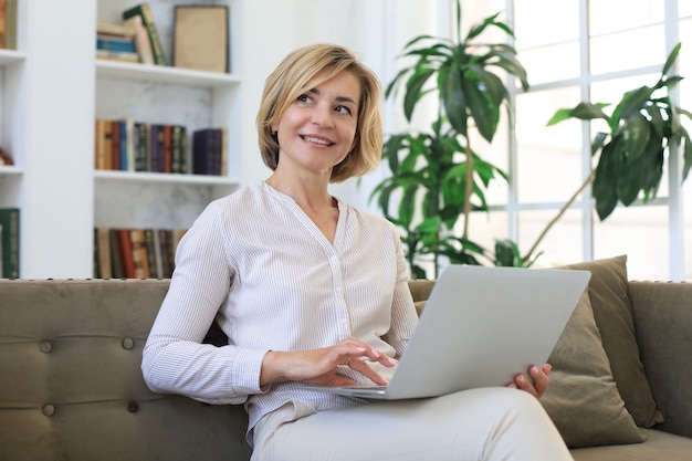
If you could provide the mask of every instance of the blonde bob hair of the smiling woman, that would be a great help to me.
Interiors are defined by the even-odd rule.
[[[324,69],[329,71],[311,82]],[[342,71],[352,72],[360,81],[356,144],[346,158],[334,167],[329,181],[342,182],[377,168],[382,148],[379,78],[350,50],[333,44],[314,44],[289,54],[264,83],[256,125],[262,159],[272,170],[279,164],[279,142],[272,133],[272,125],[305,93],[308,82],[311,87],[316,87]]]

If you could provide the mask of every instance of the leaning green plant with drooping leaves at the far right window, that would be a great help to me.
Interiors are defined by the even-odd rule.
[[[610,115],[604,112],[609,104],[587,102],[573,108],[560,108],[548,121],[547,125],[552,126],[568,118],[604,119],[608,130],[598,132],[591,143],[591,155],[597,158],[596,167],[548,222],[524,260],[534,258],[533,252],[548,230],[589,185],[596,212],[604,221],[618,202],[628,207],[640,192],[643,193],[644,203],[656,198],[667,153],[674,155],[677,149],[683,149],[682,180],[686,179],[692,167],[692,142],[681,124],[681,116],[692,119],[692,114],[673,105],[668,94],[682,80],[679,75],[669,75],[680,48],[678,43],[670,52],[654,85],[626,92]]]

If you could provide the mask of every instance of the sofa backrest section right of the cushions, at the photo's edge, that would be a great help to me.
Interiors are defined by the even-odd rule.
[[[692,437],[692,283],[630,282],[641,360],[657,408],[657,429]]]

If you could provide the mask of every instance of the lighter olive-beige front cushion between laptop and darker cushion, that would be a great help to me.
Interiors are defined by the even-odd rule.
[[[568,447],[643,441],[612,380],[586,291],[548,363],[551,385],[541,402]]]

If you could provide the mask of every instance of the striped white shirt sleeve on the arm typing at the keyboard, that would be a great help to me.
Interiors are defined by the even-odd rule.
[[[266,350],[202,344],[233,280],[223,235],[212,203],[178,245],[170,287],[143,354],[144,379],[154,391],[223,405],[262,392]]]

